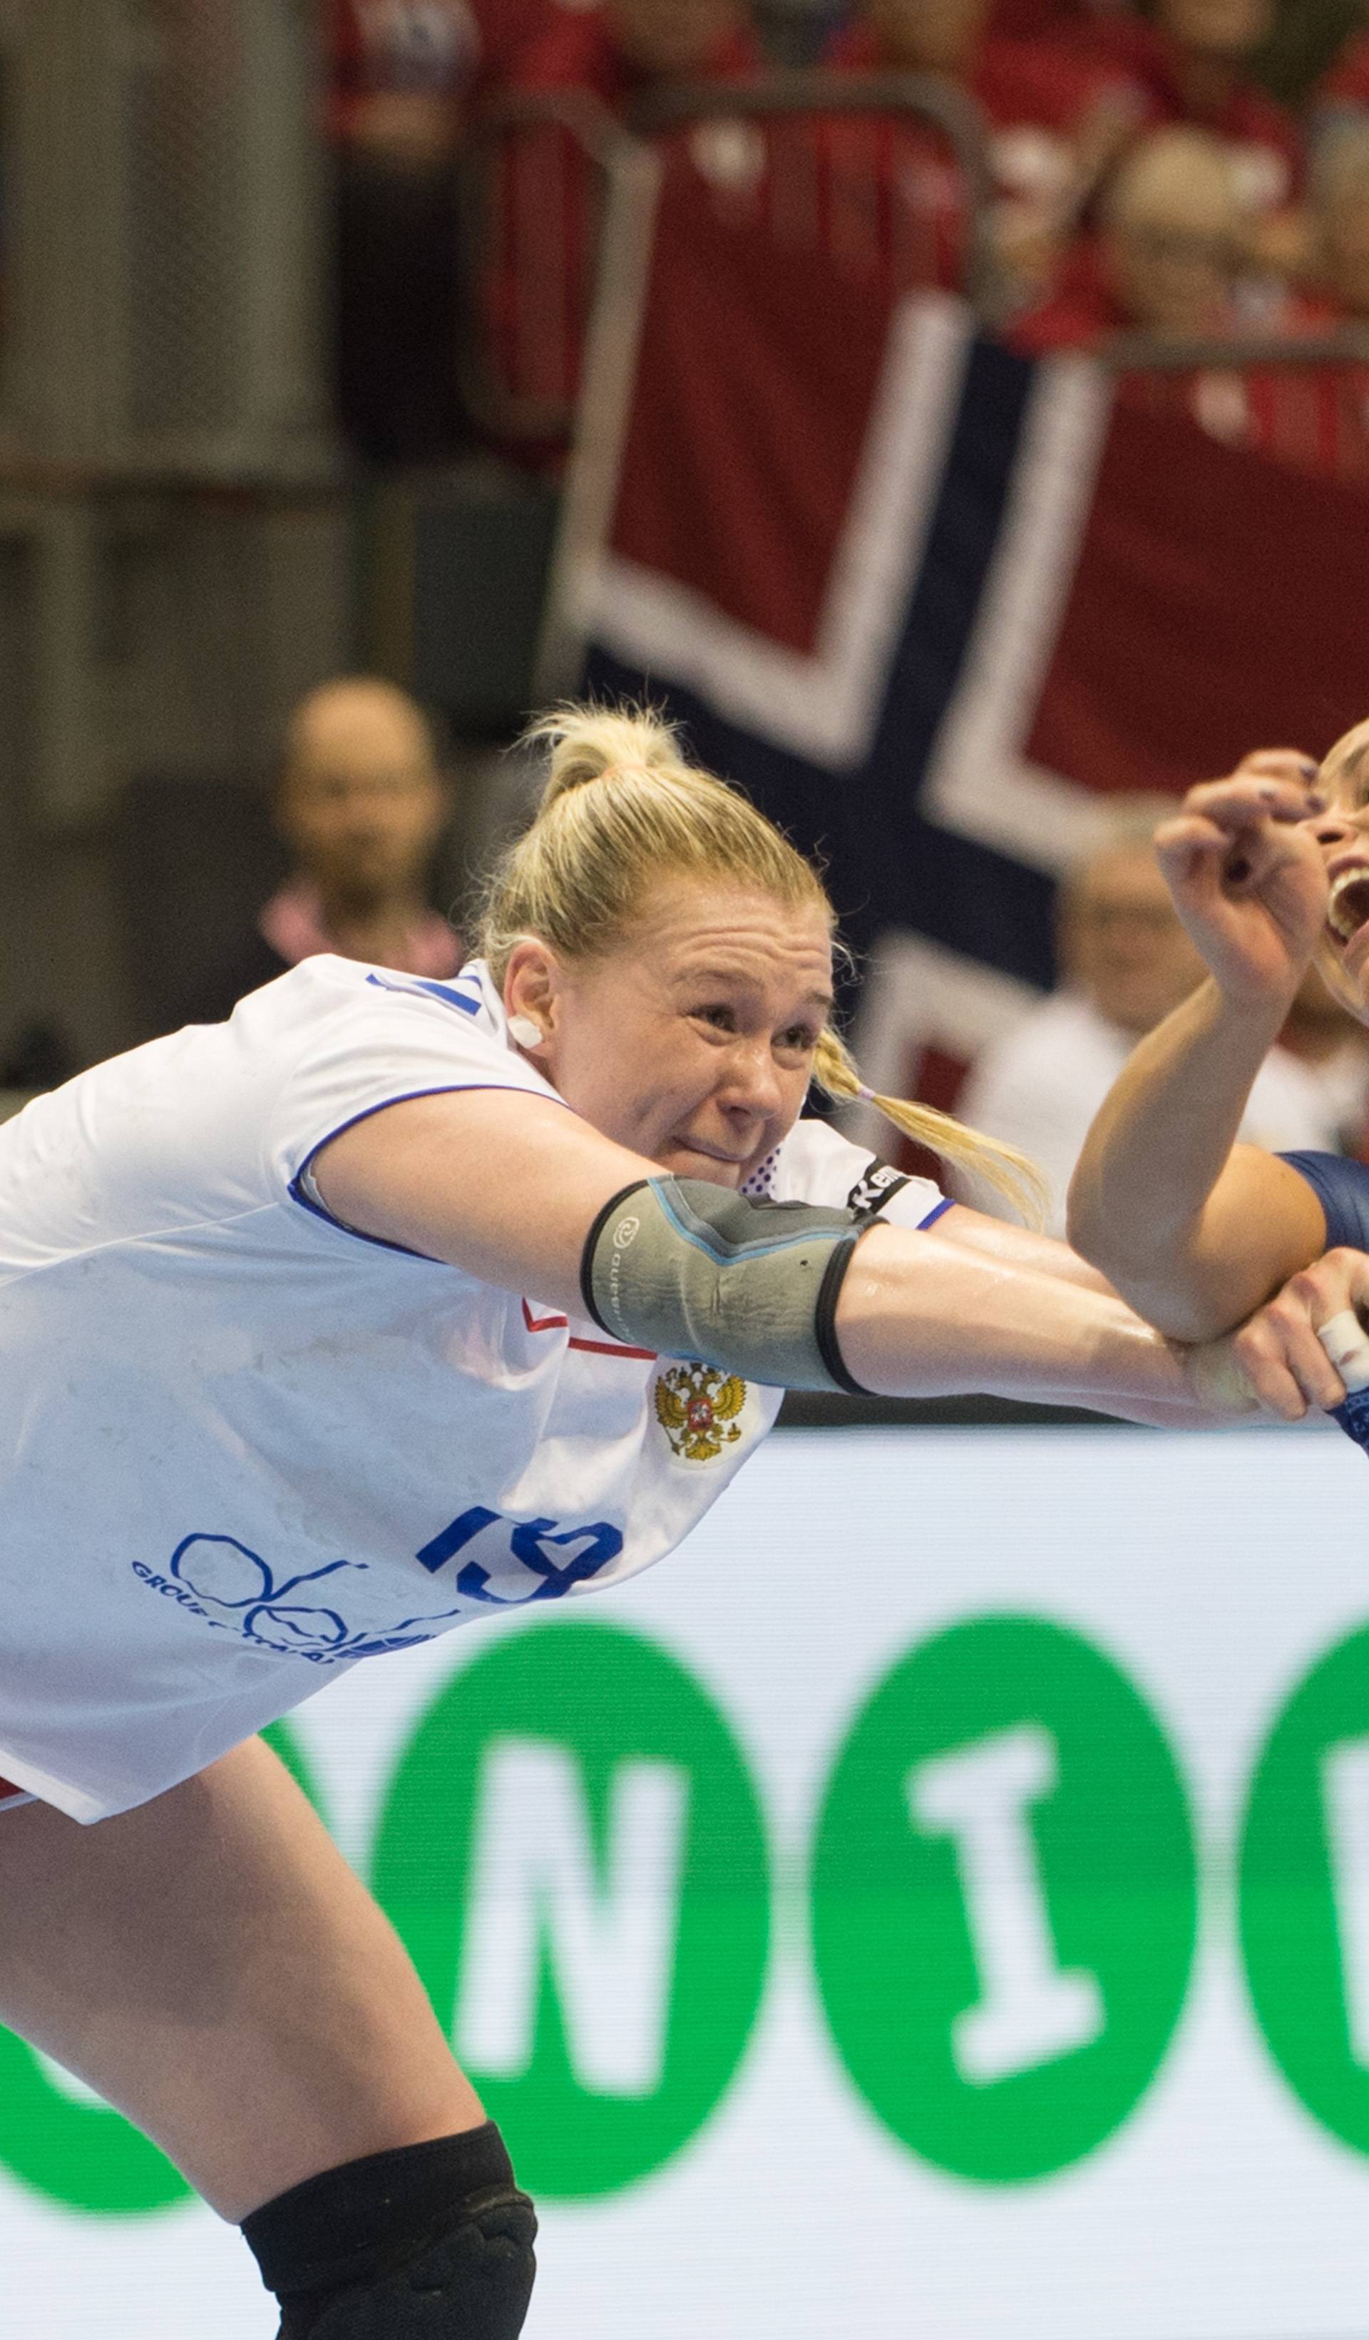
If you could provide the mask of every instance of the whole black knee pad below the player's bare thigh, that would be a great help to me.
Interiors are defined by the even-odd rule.
[[[276,2340],[517,2340],[536,2230],[491,2120],[325,2169],[243,2221]]]

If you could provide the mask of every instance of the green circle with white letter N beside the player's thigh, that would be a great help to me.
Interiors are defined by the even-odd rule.
[[[534,2193],[613,2193],[709,2118],[770,1874],[742,1750],[665,1650],[557,1622],[477,1657],[400,1760],[372,1884]]]

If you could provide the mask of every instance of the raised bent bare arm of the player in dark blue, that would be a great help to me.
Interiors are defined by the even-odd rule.
[[[1287,763],[1259,758],[1193,789],[1161,828],[1161,866],[1212,978],[1140,1044],[1069,1189],[1069,1243],[1184,1341],[1240,1324],[1327,1245],[1310,1184],[1236,1144],[1327,901],[1318,845],[1296,826],[1306,789]]]

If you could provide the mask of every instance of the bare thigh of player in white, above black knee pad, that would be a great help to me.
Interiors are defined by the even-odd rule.
[[[96,1828],[0,1818],[0,2022],[225,2218],[484,2120],[388,1919],[255,1739]]]

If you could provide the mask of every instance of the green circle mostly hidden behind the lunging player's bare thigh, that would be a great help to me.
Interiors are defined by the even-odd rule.
[[[288,1725],[274,1722],[262,1739],[318,1804]],[[150,2136],[5,2029],[0,2029],[0,2169],[33,2193],[61,2202],[63,2209],[101,2218],[147,2216],[194,2200],[180,2169]]]

